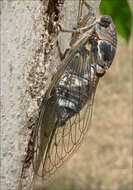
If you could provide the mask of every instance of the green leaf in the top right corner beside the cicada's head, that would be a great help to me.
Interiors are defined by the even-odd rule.
[[[99,7],[101,14],[108,14],[112,17],[117,32],[128,42],[131,36],[132,0],[101,0]]]

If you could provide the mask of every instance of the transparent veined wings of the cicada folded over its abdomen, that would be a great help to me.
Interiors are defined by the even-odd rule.
[[[92,69],[94,61],[91,52],[89,56],[76,53],[64,76],[62,73],[55,89],[53,87],[57,91],[56,96],[46,101],[41,108],[39,124],[34,132],[37,151],[34,153],[33,167],[35,174],[44,180],[49,179],[78,150],[90,126],[98,83],[98,77]],[[72,109],[68,109],[68,117],[61,118],[66,107],[71,106],[73,113]]]

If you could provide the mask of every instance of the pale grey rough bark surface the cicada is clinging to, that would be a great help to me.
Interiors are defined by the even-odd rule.
[[[100,0],[87,1],[95,10],[99,7]],[[44,9],[47,3],[45,0]],[[56,36],[52,37],[53,42],[48,43],[41,9],[40,1],[1,2],[2,190],[18,189],[22,160],[31,132],[27,129],[31,123],[27,122],[31,120],[34,124],[38,115],[37,101],[41,101],[60,63],[55,48]],[[77,10],[78,0],[65,1],[61,13],[64,15],[61,20],[64,28],[72,28],[76,24]],[[68,46],[69,38],[70,34],[59,35],[62,51]]]

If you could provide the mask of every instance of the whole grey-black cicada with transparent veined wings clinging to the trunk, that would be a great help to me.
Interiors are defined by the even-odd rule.
[[[87,14],[82,16],[82,7]],[[70,48],[43,98],[25,164],[32,160],[35,176],[45,180],[78,150],[90,126],[99,79],[115,56],[117,33],[110,16],[96,19],[85,0],[71,32]]]

